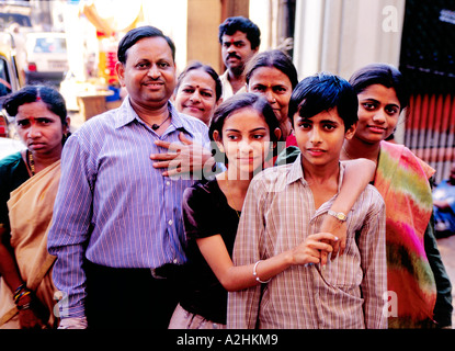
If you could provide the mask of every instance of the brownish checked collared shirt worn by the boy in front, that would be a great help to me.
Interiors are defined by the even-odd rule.
[[[293,165],[264,170],[248,189],[234,263],[254,263],[296,247],[318,233],[333,201],[315,208],[300,156]],[[346,249],[341,257],[326,268],[294,265],[264,286],[229,293],[227,325],[240,329],[387,328],[386,291],[385,205],[368,185],[348,216]]]

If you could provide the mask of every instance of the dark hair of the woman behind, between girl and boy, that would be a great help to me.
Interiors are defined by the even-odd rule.
[[[247,84],[250,81],[250,78],[254,70],[261,67],[273,67],[282,71],[291,80],[293,89],[298,83],[297,69],[295,68],[293,60],[289,56],[283,53],[280,49],[272,49],[255,54],[247,64],[246,68],[246,81]]]

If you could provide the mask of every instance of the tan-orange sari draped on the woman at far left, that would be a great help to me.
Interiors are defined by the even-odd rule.
[[[53,312],[57,303],[54,299],[57,290],[50,272],[55,257],[47,252],[47,233],[59,179],[60,161],[57,161],[11,192],[8,201],[11,247],[14,249],[22,280],[49,312],[47,328],[56,327]],[[20,328],[18,308],[3,279],[0,280],[0,328]]]

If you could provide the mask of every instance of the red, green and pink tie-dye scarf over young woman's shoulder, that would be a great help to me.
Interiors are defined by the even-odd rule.
[[[407,147],[382,143],[375,186],[386,203],[389,328],[433,325],[436,285],[423,242],[433,210],[428,181],[433,173]]]

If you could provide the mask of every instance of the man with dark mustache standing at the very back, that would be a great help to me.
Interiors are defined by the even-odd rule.
[[[239,91],[246,91],[244,66],[259,50],[261,31],[249,19],[228,18],[219,25],[218,39],[226,66],[225,73],[219,77],[223,84],[223,100],[226,100]]]

